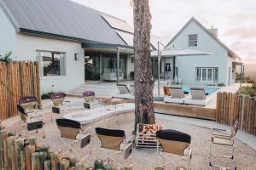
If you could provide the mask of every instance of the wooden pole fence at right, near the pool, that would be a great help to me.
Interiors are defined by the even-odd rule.
[[[236,117],[242,131],[256,136],[256,98],[218,93],[216,121],[231,126]]]

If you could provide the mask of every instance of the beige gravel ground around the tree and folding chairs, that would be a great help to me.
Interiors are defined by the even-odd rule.
[[[54,117],[56,118],[56,116]],[[3,124],[6,125],[10,131],[18,132],[20,129],[20,124],[18,123],[19,116],[11,118],[4,121]],[[94,122],[89,125],[84,126],[91,127],[91,142],[83,150],[79,149],[79,145],[73,145],[73,148],[79,150],[81,156],[85,156],[90,151],[92,155],[87,160],[88,164],[91,166],[93,161],[96,159],[104,159],[102,153],[97,150],[99,146],[99,140],[95,134],[95,127],[107,127],[113,129],[123,129],[125,130],[126,137],[131,136],[131,131],[133,129],[134,113],[125,113],[118,116],[108,117],[100,122]],[[210,133],[211,131],[204,127],[196,127],[186,123],[172,122],[162,119],[156,120],[157,124],[163,125],[165,128],[171,128],[174,130],[181,131],[183,133],[188,133],[192,137],[192,147],[193,156],[191,161],[191,168],[195,170],[201,169],[217,169],[216,167],[209,167],[209,145],[211,141]],[[45,115],[45,126],[44,126],[46,138],[39,139],[39,144],[49,144],[50,150],[67,150],[64,144],[61,143],[59,139],[59,130],[56,127],[55,121],[50,120],[50,114]],[[249,147],[247,144],[242,143],[239,139],[235,139],[235,153],[236,153],[236,166],[237,169],[241,170],[253,170],[256,169],[256,151]],[[230,153],[227,147],[216,147],[215,151]],[[109,153],[111,150],[109,150]],[[127,160],[123,160],[123,156],[115,156],[115,158],[122,164],[132,163],[133,169],[136,170],[152,170],[157,167],[163,159],[158,156],[155,149],[136,149],[134,148],[131,156]],[[177,156],[171,156],[172,160],[175,160]],[[212,160],[222,165],[230,165],[230,162],[222,160]],[[183,164],[183,162],[180,162]],[[166,169],[175,169],[172,166],[167,166]]]

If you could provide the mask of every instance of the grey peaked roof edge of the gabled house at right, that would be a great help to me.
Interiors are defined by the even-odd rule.
[[[172,40],[167,43],[166,48],[168,48],[168,46],[170,46],[170,45],[172,44],[172,42],[176,39],[176,37],[177,37],[187,26],[189,26],[189,24],[190,24],[191,22],[193,22],[193,21],[195,22],[195,24],[197,24],[198,26],[200,26],[204,31],[206,31],[209,36],[211,36],[215,41],[217,41],[220,46],[222,46],[225,50],[227,50],[228,54],[229,54],[231,57],[233,57],[233,58],[235,58],[235,59],[236,59],[236,58],[237,58],[237,59],[241,59],[241,58],[240,58],[237,54],[235,54],[230,48],[228,48],[228,47],[224,44],[224,42],[221,42],[221,41],[218,39],[218,37],[213,36],[213,34],[212,34],[210,31],[208,31],[205,26],[202,26],[201,23],[200,23],[198,20],[196,20],[194,17],[192,17],[192,18],[185,24],[185,26],[183,26],[183,28],[182,28],[180,31],[178,31],[177,34],[176,34],[174,37],[172,37]]]

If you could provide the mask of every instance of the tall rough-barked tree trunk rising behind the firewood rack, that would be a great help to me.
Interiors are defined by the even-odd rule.
[[[135,132],[137,123],[154,123],[153,88],[151,71],[150,30],[151,14],[148,0],[133,1],[135,48]]]

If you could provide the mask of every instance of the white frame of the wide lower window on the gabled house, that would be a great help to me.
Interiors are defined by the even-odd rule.
[[[203,70],[207,70],[205,80],[203,80],[203,74],[202,74]],[[198,79],[198,75],[197,75],[198,71],[199,71],[200,79]],[[209,79],[209,75],[208,75],[209,71],[212,71],[212,76],[210,79]],[[216,73],[218,74],[218,67],[196,67],[195,68],[195,81],[196,82],[218,82],[218,77],[217,77],[217,80],[214,81],[214,77],[215,77]]]

